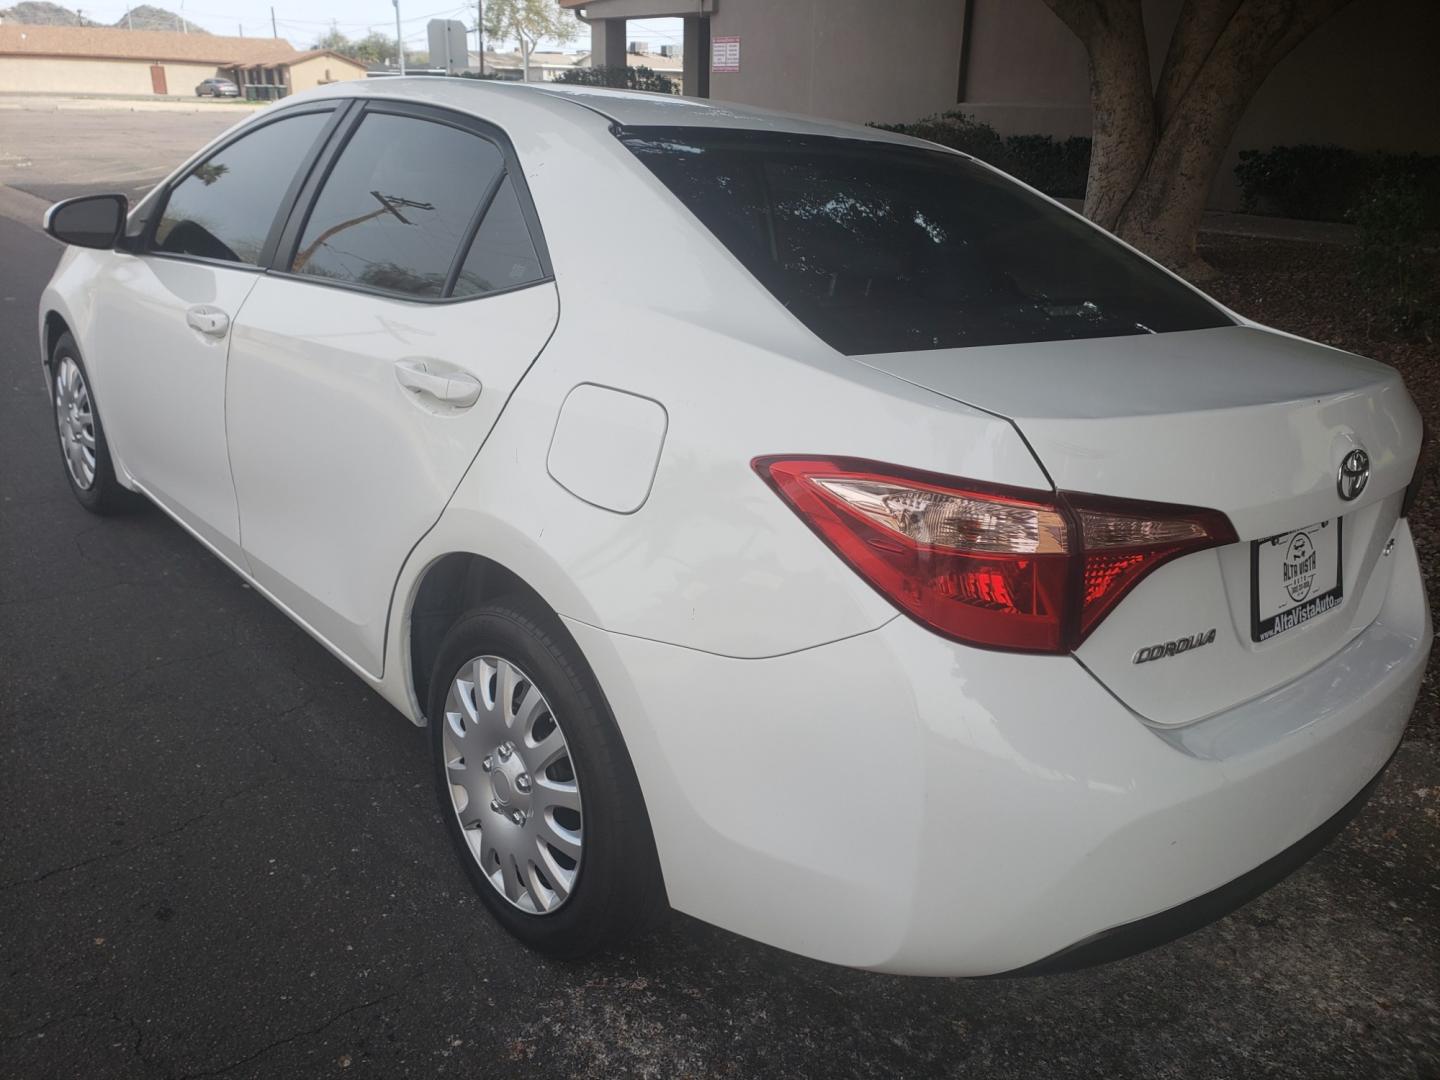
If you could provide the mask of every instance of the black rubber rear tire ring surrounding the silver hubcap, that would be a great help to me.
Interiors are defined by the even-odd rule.
[[[549,914],[521,912],[495,891],[451,802],[445,698],[461,667],[480,655],[511,661],[539,687],[570,747],[585,848],[575,890]],[[426,716],[445,831],[481,901],[510,933],[552,956],[579,958],[644,929],[662,909],[664,886],[634,768],[595,677],[557,619],[524,603],[494,603],[464,616],[441,645]]]

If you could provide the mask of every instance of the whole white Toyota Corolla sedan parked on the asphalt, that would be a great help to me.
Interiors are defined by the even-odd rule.
[[[59,448],[416,724],[495,919],[1058,971],[1354,814],[1431,629],[1394,370],[888,132],[350,82],[55,206]]]

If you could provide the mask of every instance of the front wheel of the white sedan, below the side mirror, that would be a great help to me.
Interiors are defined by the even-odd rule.
[[[60,465],[75,500],[92,514],[122,514],[141,500],[115,480],[115,467],[105,441],[89,372],[75,338],[66,331],[50,350],[50,412],[60,449]],[[69,435],[68,435],[69,432]],[[72,446],[78,444],[78,456]]]

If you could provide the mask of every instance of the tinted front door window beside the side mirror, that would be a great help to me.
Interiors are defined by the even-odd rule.
[[[276,120],[196,166],[170,193],[156,249],[259,262],[285,190],[328,121],[330,112]]]

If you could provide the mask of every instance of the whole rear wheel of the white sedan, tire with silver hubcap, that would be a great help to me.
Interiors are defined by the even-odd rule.
[[[505,685],[513,687],[508,710]],[[520,598],[462,616],[441,644],[428,706],[445,831],[481,901],[511,935],[549,956],[579,959],[642,933],[668,910],[619,729],[553,615]],[[497,727],[501,717],[505,729]],[[563,760],[546,759],[554,732]],[[467,746],[468,739],[475,742]],[[540,772],[530,778],[530,768]],[[560,828],[547,828],[547,819]],[[546,842],[562,835],[577,844]],[[510,873],[501,865],[505,852],[518,852]],[[510,896],[514,884],[518,896]]]

